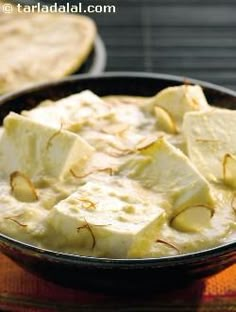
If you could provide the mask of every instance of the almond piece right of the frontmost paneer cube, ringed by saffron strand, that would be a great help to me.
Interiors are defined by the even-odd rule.
[[[194,206],[180,212],[171,226],[181,232],[199,232],[210,224],[212,210],[205,206]]]

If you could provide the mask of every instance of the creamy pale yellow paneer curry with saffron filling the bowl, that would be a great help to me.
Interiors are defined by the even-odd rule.
[[[236,111],[198,85],[153,97],[83,91],[1,128],[0,231],[105,258],[158,258],[236,239]]]

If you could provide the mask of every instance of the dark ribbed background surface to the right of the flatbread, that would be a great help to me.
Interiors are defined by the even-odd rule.
[[[108,71],[176,74],[236,90],[235,0],[84,3],[116,5],[115,14],[90,14],[107,47]]]

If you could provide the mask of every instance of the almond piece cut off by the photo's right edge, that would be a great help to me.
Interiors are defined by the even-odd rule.
[[[225,154],[223,158],[223,180],[226,185],[236,188],[236,157]]]

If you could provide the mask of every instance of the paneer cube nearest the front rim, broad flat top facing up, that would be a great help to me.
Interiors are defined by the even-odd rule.
[[[84,249],[99,257],[142,257],[165,215],[157,198],[150,194],[149,200],[146,193],[126,179],[88,182],[50,212],[49,231],[58,236],[55,248]]]

